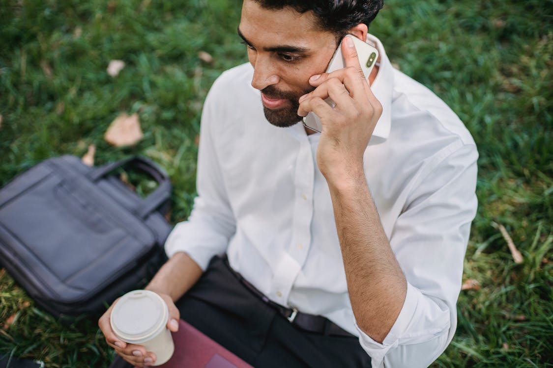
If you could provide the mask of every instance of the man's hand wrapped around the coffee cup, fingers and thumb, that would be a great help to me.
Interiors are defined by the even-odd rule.
[[[176,332],[179,329],[179,310],[169,295],[160,293],[158,293],[158,295],[163,298],[169,307],[169,321],[167,322],[167,328],[169,328],[171,332]],[[117,303],[117,300],[113,302],[111,307],[109,307],[106,313],[104,313],[98,320],[98,326],[102,330],[107,344],[115,349],[116,353],[121,355],[124,360],[137,367],[145,367],[154,364],[156,356],[152,353],[152,351],[146,351],[142,345],[128,344],[117,338],[117,336],[113,333],[111,324],[109,323],[109,317],[111,317],[113,306]]]

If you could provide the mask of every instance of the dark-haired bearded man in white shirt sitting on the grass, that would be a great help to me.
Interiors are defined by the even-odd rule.
[[[244,0],[249,64],[206,98],[199,196],[147,287],[168,302],[171,330],[180,316],[259,367],[427,366],[451,341],[478,154],[368,35],[380,8]],[[347,38],[346,68],[324,73],[346,34],[379,49],[368,81]],[[311,111],[321,134],[299,123]],[[228,261],[210,263],[217,254]],[[114,336],[110,313],[108,344],[152,364]]]

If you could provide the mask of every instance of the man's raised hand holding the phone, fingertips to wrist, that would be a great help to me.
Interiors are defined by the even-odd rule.
[[[363,153],[382,114],[349,36],[342,42],[342,54],[346,68],[312,76],[309,83],[316,88],[300,98],[298,109],[300,116],[313,111],[321,118],[317,163],[328,184],[363,174]],[[334,108],[324,101],[328,97]]]

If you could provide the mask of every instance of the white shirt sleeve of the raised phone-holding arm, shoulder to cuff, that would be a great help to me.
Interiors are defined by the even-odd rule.
[[[463,259],[477,209],[477,158],[473,144],[452,143],[411,185],[390,237],[408,284],[404,305],[382,344],[357,327],[373,368],[429,366],[455,334]]]

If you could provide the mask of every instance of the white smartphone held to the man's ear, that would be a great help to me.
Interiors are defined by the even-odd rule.
[[[369,74],[371,74],[371,71],[373,70],[374,64],[377,62],[378,50],[374,46],[371,46],[367,44],[367,42],[359,40],[355,36],[346,35],[345,37],[352,38],[353,44],[355,45],[355,49],[357,51],[357,56],[359,58],[359,64],[361,65],[361,69],[363,70],[365,78],[368,78]],[[328,67],[326,68],[327,73],[346,67],[346,63],[344,62],[344,58],[342,55],[342,42],[340,42],[340,45],[338,45],[338,48],[336,49],[334,55],[328,63]],[[336,104],[332,101],[330,97],[327,98],[325,102],[332,107],[336,106]],[[313,113],[312,111],[311,113],[307,114],[307,116],[305,116],[304,125],[309,129],[315,130],[317,132],[322,131],[321,118],[319,118],[319,116],[317,116],[317,114]]]

